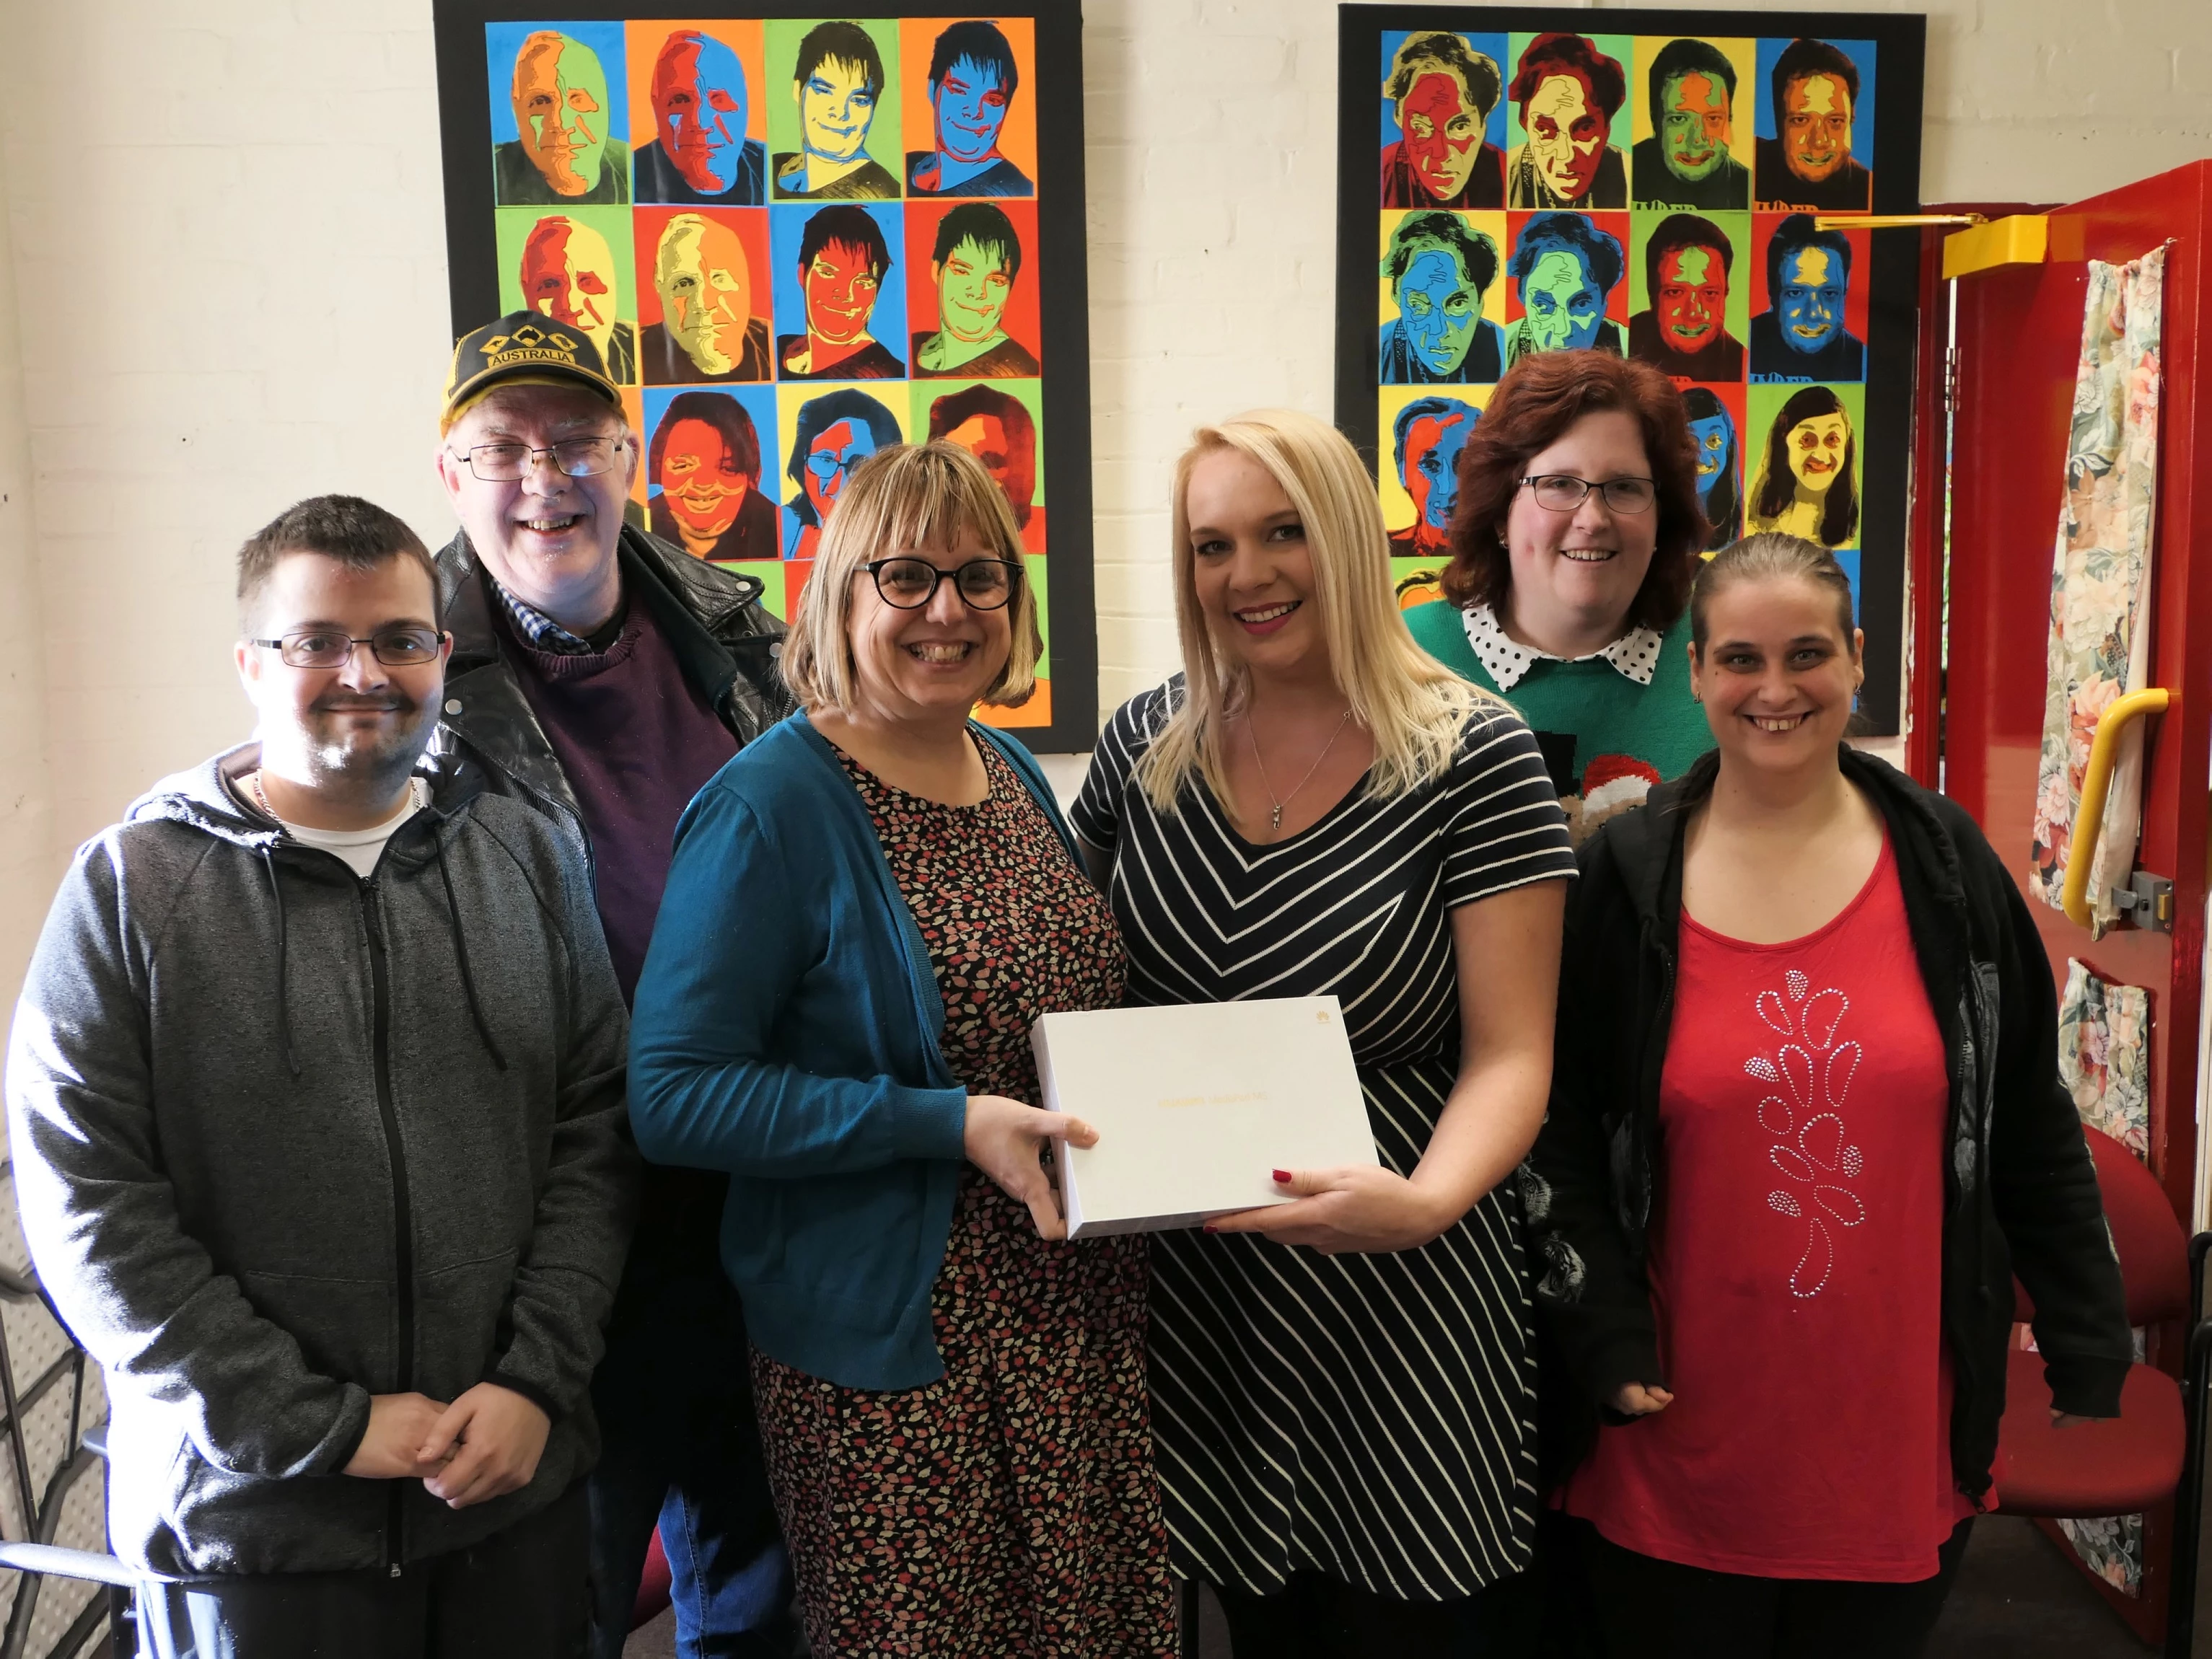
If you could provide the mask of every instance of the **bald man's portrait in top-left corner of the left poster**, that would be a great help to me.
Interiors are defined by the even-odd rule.
[[[502,208],[630,199],[619,22],[489,22],[491,177]]]

